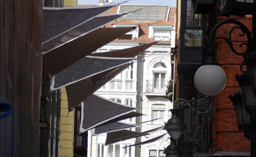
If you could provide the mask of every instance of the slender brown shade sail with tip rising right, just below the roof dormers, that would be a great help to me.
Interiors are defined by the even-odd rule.
[[[140,46],[131,47],[128,49],[121,49],[116,51],[102,52],[102,53],[92,53],[90,56],[98,57],[135,57],[139,53],[144,52],[146,49],[149,49],[152,45],[157,42],[151,42],[149,44],[143,44]]]

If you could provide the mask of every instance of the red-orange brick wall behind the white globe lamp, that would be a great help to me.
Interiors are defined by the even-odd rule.
[[[251,30],[251,16],[240,18],[231,16],[234,20],[239,20],[247,25]],[[225,17],[219,17],[218,21],[225,20]],[[235,25],[226,24],[216,31],[216,36],[227,38],[229,31]],[[246,41],[245,37],[239,36],[240,31],[235,30],[232,34],[234,41]],[[245,50],[246,46],[240,47],[241,42],[234,42],[234,48],[238,52]],[[224,90],[216,95],[213,100],[213,153],[215,152],[249,152],[250,141],[244,137],[242,131],[238,130],[236,117],[232,102],[229,100],[229,94],[233,95],[239,89],[235,80],[235,74],[241,74],[240,64],[243,61],[242,56],[235,55],[224,40],[217,40],[217,61],[226,73],[227,83]]]

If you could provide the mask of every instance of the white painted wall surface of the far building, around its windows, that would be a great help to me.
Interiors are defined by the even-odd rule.
[[[170,33],[173,35],[174,32]],[[175,33],[174,33],[175,34]],[[175,38],[175,35],[174,35]],[[174,40],[171,40],[171,45],[174,45]],[[133,44],[133,45],[131,45]],[[104,52],[104,51],[112,51],[112,50],[118,50],[118,49],[127,49],[129,47],[135,46],[136,43],[110,43],[108,45],[103,46],[101,49],[98,49],[98,52]],[[154,77],[154,64],[158,62],[162,62],[167,67],[167,71],[165,73],[165,79],[169,80],[171,76],[171,45],[170,46],[162,46],[162,45],[153,45],[149,49],[147,49],[144,52],[144,69],[143,69],[143,103],[142,103],[142,113],[144,116],[142,116],[142,122],[149,121],[152,118],[152,105],[165,105],[165,111],[164,111],[164,121],[167,122],[167,120],[170,118],[170,113],[168,113],[169,109],[172,108],[171,102],[165,98],[165,93],[148,93],[146,91],[147,86],[147,80],[153,80]],[[138,46],[138,45],[137,45]],[[142,57],[141,55],[138,56],[138,58]],[[137,91],[137,82],[141,82],[141,80],[137,79],[137,69],[141,69],[142,67],[139,66],[137,62],[133,64],[133,79],[127,79],[126,78],[126,72],[128,69],[121,72],[121,77],[115,78],[111,81],[121,82],[121,88],[114,88],[110,89],[110,82],[108,82],[105,85],[105,88],[99,89],[96,94],[99,94],[103,97],[106,97],[107,99],[111,98],[118,98],[121,99],[121,103],[125,104],[126,99],[133,100],[133,106],[136,106],[137,103],[137,96],[140,91]],[[119,75],[119,76],[120,76]],[[132,89],[126,88],[126,82],[132,82]],[[139,87],[140,88],[140,87]],[[139,89],[138,88],[138,89]],[[130,122],[130,119],[124,120],[123,122],[127,124],[135,124],[135,118],[132,119]],[[142,124],[142,131],[150,130],[159,126],[162,126],[164,124],[152,124],[151,122]],[[132,128],[133,131],[135,131],[135,128]],[[89,131],[90,133],[90,131]],[[159,135],[162,135],[166,133],[165,130],[161,130],[155,133],[152,133],[151,135],[148,135],[146,137],[142,137],[142,142],[157,137]],[[149,150],[157,150],[157,157],[159,150],[163,150],[164,147],[167,147],[169,145],[168,141],[169,135],[167,134],[163,139],[157,142],[153,142],[151,144],[145,144],[141,147],[141,157],[148,157],[149,156]],[[91,136],[89,134],[88,136],[88,156],[89,157],[97,157],[97,151],[98,147],[97,144],[105,144],[105,138],[106,134],[101,134],[98,136]],[[90,148],[90,140],[92,140],[92,145]],[[129,139],[123,142],[118,142],[116,144],[120,145],[120,157],[124,156],[124,149],[121,148],[125,145],[131,145],[135,144],[135,139]],[[115,144],[114,144],[115,145]],[[90,151],[91,150],[91,151]],[[131,148],[131,157],[135,157],[135,147]],[[100,147],[100,157],[101,156],[101,147]],[[104,146],[104,156],[103,157],[109,157],[108,156],[108,146]]]

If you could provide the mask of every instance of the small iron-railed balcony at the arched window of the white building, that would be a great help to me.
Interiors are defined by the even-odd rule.
[[[166,95],[168,80],[147,80],[145,95]]]

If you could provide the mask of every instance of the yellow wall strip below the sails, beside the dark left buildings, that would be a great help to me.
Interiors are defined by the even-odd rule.
[[[59,157],[73,157],[74,111],[68,114],[66,89],[61,89]]]

